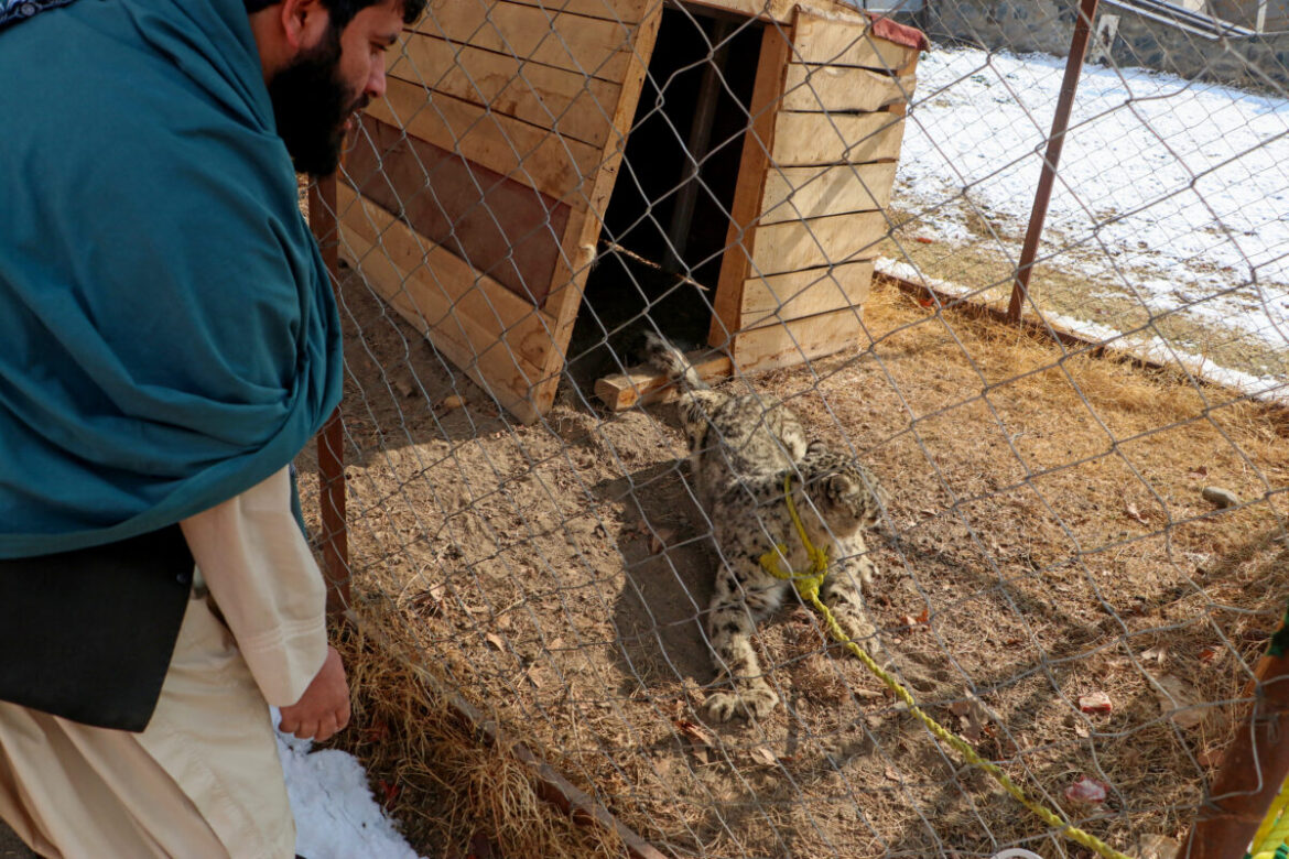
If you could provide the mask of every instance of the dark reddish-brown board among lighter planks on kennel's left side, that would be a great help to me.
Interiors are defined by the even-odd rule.
[[[358,192],[419,236],[540,305],[568,206],[373,116],[345,158]]]

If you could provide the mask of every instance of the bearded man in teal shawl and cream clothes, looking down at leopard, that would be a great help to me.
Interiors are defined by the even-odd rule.
[[[295,170],[423,8],[0,0],[0,818],[41,855],[294,855],[268,707],[349,719],[291,514],[342,362]]]

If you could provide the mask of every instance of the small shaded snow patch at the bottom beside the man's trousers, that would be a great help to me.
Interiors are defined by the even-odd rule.
[[[342,751],[311,751],[312,746],[277,734],[295,814],[295,851],[305,859],[418,859],[373,798],[362,764]]]

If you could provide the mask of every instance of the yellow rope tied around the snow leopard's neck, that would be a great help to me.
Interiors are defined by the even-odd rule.
[[[833,637],[837,641],[844,644],[851,653],[857,656],[860,658],[860,662],[867,666],[869,671],[877,675],[882,680],[882,683],[884,683],[887,688],[889,688],[891,692],[893,692],[895,695],[909,707],[909,711],[914,716],[916,716],[918,720],[922,721],[922,724],[926,725],[932,734],[935,734],[941,742],[945,742],[954,750],[956,750],[958,753],[962,755],[968,764],[971,764],[972,766],[978,766],[980,769],[989,773],[995,782],[1003,786],[1003,789],[1005,789],[1008,793],[1016,797],[1017,802],[1027,807],[1030,811],[1032,811],[1035,815],[1043,819],[1048,826],[1058,829],[1061,835],[1063,835],[1070,841],[1083,845],[1084,847],[1092,850],[1097,855],[1103,856],[1105,859],[1130,859],[1130,856],[1128,856],[1127,854],[1119,853],[1118,850],[1115,850],[1106,842],[1101,841],[1096,836],[1066,823],[1060,817],[1057,817],[1054,811],[1049,810],[1040,802],[1031,800],[1029,795],[1025,792],[1025,789],[1020,784],[1013,782],[1012,778],[1005,771],[1003,771],[1000,766],[981,757],[976,752],[976,750],[972,748],[971,743],[968,743],[965,739],[963,739],[962,737],[953,733],[951,730],[937,722],[935,719],[924,713],[922,708],[918,707],[916,702],[913,699],[913,695],[909,694],[909,690],[905,689],[900,684],[900,681],[896,680],[891,674],[883,670],[882,666],[879,666],[873,659],[873,657],[865,653],[860,645],[857,645],[855,641],[849,639],[849,636],[846,635],[846,632],[838,625],[837,618],[833,616],[833,612],[826,605],[824,605],[824,603],[819,599],[819,591],[824,583],[824,577],[828,572],[828,549],[826,547],[822,550],[816,549],[811,543],[809,538],[806,536],[806,525],[802,524],[802,519],[797,514],[797,505],[793,502],[793,478],[790,474],[784,478],[784,496],[788,500],[788,513],[791,515],[793,524],[797,527],[797,534],[798,537],[800,537],[802,545],[806,547],[806,552],[809,555],[811,568],[809,572],[807,573],[794,573],[791,571],[788,572],[781,571],[779,567],[779,559],[780,556],[784,559],[788,558],[788,546],[784,543],[779,543],[775,547],[775,550],[767,551],[761,556],[761,565],[766,569],[766,572],[768,572],[775,578],[790,581],[795,586],[797,592],[800,594],[802,599],[813,605],[815,610],[824,617],[824,621],[828,625],[828,631],[833,635]]]

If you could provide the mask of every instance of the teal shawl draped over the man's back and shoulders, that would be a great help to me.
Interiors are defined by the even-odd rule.
[[[0,31],[0,558],[171,524],[340,397],[340,326],[241,0]]]

